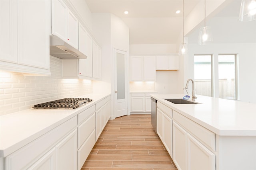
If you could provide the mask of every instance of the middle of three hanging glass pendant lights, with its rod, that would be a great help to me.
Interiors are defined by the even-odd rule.
[[[204,0],[204,27],[200,28],[198,44],[204,45],[207,41],[213,41],[210,26],[206,26],[206,0]]]

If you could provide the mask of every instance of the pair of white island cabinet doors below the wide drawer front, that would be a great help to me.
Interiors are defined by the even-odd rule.
[[[173,161],[179,170],[215,170],[215,154],[173,122]]]

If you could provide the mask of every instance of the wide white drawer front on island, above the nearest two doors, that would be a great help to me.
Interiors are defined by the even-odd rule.
[[[173,120],[179,123],[193,137],[203,143],[208,149],[215,151],[215,133],[198,125],[194,121],[186,118],[177,111],[173,111]]]

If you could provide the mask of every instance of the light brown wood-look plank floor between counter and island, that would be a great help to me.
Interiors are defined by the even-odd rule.
[[[109,120],[81,170],[178,170],[151,126],[151,115]]]

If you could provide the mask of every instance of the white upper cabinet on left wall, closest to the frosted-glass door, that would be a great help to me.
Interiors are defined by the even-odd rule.
[[[92,77],[101,79],[101,49],[98,44],[92,40]]]

